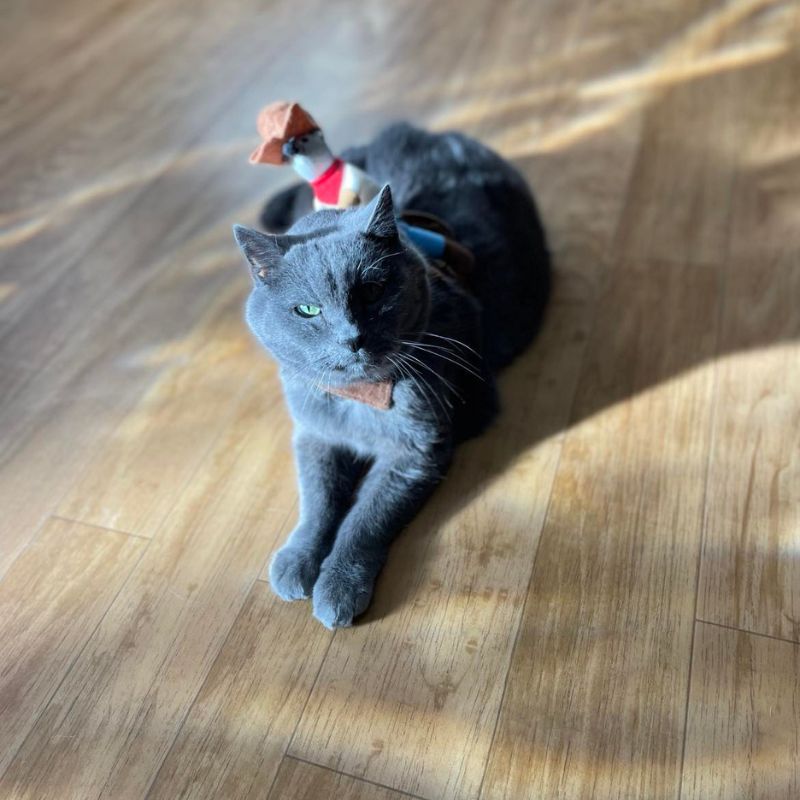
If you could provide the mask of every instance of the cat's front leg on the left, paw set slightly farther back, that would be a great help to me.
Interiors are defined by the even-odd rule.
[[[352,453],[300,432],[294,440],[300,519],[272,558],[269,581],[283,600],[311,596],[322,560],[353,500],[363,465]]]

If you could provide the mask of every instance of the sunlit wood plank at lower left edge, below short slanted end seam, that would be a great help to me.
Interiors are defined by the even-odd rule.
[[[50,519],[0,581],[0,774],[145,545],[114,531]]]

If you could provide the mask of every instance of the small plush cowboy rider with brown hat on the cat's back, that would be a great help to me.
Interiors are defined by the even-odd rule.
[[[314,192],[314,208],[348,208],[372,200],[380,187],[355,164],[335,156],[314,118],[299,104],[278,101],[258,115],[261,144],[250,155],[251,164],[291,163]],[[472,253],[447,235],[447,227],[421,212],[403,215],[399,225],[429,258],[452,268],[465,279],[472,271]]]

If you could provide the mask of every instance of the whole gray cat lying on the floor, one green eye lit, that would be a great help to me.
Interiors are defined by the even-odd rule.
[[[369,205],[306,213],[298,186],[265,210],[287,233],[234,228],[254,283],[247,324],[280,365],[295,425],[299,521],[270,582],[284,600],[313,597],[329,628],[367,608],[454,446],[492,420],[494,374],[532,339],[550,285],[533,198],[483,145],[394,125],[344,158],[386,184]],[[473,251],[470,289],[414,249],[403,209],[437,215]],[[361,399],[342,396],[353,387]]]

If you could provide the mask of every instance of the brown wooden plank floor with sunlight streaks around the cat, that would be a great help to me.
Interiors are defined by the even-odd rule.
[[[6,0],[0,798],[800,797],[800,3]],[[335,634],[265,582],[258,108],[459,127],[556,264]]]

